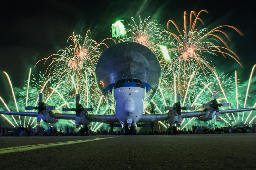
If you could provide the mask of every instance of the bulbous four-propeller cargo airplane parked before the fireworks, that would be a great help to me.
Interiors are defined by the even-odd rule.
[[[165,121],[169,124],[181,125],[183,118],[196,117],[200,121],[209,121],[216,116],[220,121],[220,114],[256,110],[256,108],[226,109],[230,103],[217,103],[216,91],[213,91],[213,100],[203,104],[197,111],[182,112],[182,110],[195,110],[195,107],[181,106],[181,96],[177,93],[177,102],[162,114],[143,114],[153,98],[161,82],[161,67],[155,54],[146,46],[136,42],[121,42],[106,49],[100,56],[96,68],[96,81],[98,88],[106,98],[111,110],[111,115],[89,114],[92,108],[84,108],[80,103],[80,95],[76,95],[76,108],[62,108],[62,112],[75,111],[76,114],[59,113],[54,106],[42,102],[42,93],[39,94],[37,107],[26,106],[26,110],[37,112],[8,112],[0,114],[37,117],[37,123],[56,123],[59,119],[75,120],[76,127],[84,125],[86,134],[90,129],[90,122],[110,124],[125,129],[125,135],[135,134],[135,127],[151,126],[154,131],[154,122]],[[115,123],[118,123],[116,125]],[[138,124],[146,123],[146,124]]]

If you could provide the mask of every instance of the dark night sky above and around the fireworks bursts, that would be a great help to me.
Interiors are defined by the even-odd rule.
[[[37,61],[57,53],[67,47],[67,39],[73,32],[84,37],[91,30],[90,39],[97,42],[112,37],[110,28],[118,20],[130,22],[134,17],[144,20],[151,16],[150,21],[157,20],[166,28],[168,20],[174,20],[183,29],[183,12],[207,10],[202,13],[204,27],[213,29],[221,25],[232,25],[240,29],[245,36],[240,36],[232,29],[227,32],[231,42],[228,45],[242,59],[245,68],[235,60],[224,59],[220,54],[211,58],[214,66],[225,74],[234,74],[247,80],[255,59],[255,12],[252,1],[0,1],[0,96],[7,101],[11,91],[2,73],[7,72],[13,87],[23,88],[28,79],[30,67]],[[199,28],[202,25],[199,24]],[[172,28],[174,30],[174,28]],[[45,72],[49,63],[39,63],[32,74]],[[1,107],[2,105],[0,105]]]

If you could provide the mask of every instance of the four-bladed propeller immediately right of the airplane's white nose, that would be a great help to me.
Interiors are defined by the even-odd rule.
[[[165,106],[164,110],[176,110],[178,113],[178,124],[181,124],[181,110],[195,110],[195,107],[182,107],[180,104],[180,93],[177,93],[177,103],[173,107]]]

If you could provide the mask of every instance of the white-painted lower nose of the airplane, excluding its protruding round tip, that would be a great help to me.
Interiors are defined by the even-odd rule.
[[[120,87],[114,89],[114,96],[116,100],[115,114],[119,122],[121,124],[123,122],[127,123],[127,119],[132,119],[133,123],[138,122],[144,112],[143,99],[145,97],[145,89],[140,87]],[[124,104],[127,98],[132,98],[136,104],[136,108],[130,113],[130,117],[129,113],[124,109]]]

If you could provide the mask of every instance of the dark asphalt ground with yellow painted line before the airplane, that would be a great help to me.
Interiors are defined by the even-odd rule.
[[[255,143],[256,134],[0,137],[0,169],[255,169]]]

